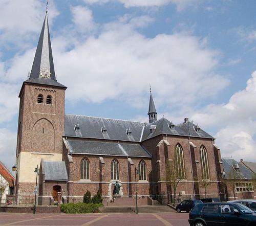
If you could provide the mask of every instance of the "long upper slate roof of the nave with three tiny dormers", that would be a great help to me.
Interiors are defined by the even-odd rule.
[[[79,124],[78,131],[74,129],[77,123]],[[118,119],[65,115],[65,136],[139,142],[143,126],[147,124]],[[102,127],[106,128],[106,134],[102,133]],[[126,134],[126,129],[131,130],[131,137]]]

